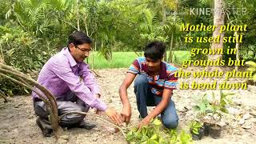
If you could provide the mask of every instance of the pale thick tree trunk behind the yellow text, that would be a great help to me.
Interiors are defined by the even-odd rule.
[[[219,43],[215,43],[213,42],[211,45],[211,49],[222,49],[223,50],[223,37],[224,37],[224,33],[220,34],[219,30],[220,27],[224,25],[224,18],[225,18],[225,14],[221,13],[221,11],[224,9],[224,0],[214,0],[214,26],[217,26],[217,28],[214,30],[214,34],[213,37],[216,38],[218,35],[220,35],[220,42]],[[217,12],[215,12],[217,11]],[[220,61],[222,60],[222,54],[209,54],[208,55],[208,59],[209,60],[217,60],[218,58],[220,58]],[[219,70],[222,70],[220,66],[216,66],[216,68],[218,68]],[[207,68],[208,70],[210,70],[210,66]]]

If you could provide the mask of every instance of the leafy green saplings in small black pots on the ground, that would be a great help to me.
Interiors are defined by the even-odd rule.
[[[223,93],[220,90],[220,96],[217,98],[214,93],[212,94],[203,94],[202,98],[194,98],[196,102],[194,106],[194,110],[198,112],[197,117],[200,122],[203,123],[204,135],[210,134],[212,138],[219,138],[221,135],[221,126],[218,126],[218,122],[222,119],[223,114],[227,114],[228,110],[226,110],[226,106],[232,103],[230,99],[230,95],[234,95],[232,93]],[[210,117],[210,120],[206,117]],[[197,130],[196,122],[192,123],[191,129],[194,134]],[[195,130],[193,129],[195,127]],[[194,130],[194,131],[193,131]],[[193,136],[192,133],[192,136]]]

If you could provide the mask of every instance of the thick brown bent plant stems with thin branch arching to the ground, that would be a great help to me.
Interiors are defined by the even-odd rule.
[[[46,108],[50,113],[50,124],[52,126],[52,129],[54,130],[55,138],[57,139],[59,138],[59,135],[62,133],[62,127],[59,126],[60,119],[62,119],[66,114],[92,115],[95,118],[102,120],[103,122],[107,122],[112,126],[117,127],[118,130],[122,132],[122,135],[126,138],[126,134],[124,133],[124,130],[122,129],[122,127],[114,124],[113,122],[106,120],[106,118],[102,118],[98,116],[98,114],[70,111],[58,117],[58,107],[57,107],[56,98],[54,97],[53,94],[50,93],[49,90],[47,90],[44,86],[38,84],[38,82],[35,82],[33,78],[29,78],[28,76],[26,76],[26,74],[23,74],[18,70],[14,70],[12,67],[6,66],[2,62],[0,62],[0,76],[10,79],[10,81],[17,83],[20,86],[24,86],[27,89],[32,90],[36,94],[38,94],[38,96],[42,99],[42,101],[46,103]],[[33,86],[35,86],[37,89],[34,89]],[[42,93],[40,93],[38,90],[40,90]],[[0,96],[2,96],[2,91],[0,91]]]

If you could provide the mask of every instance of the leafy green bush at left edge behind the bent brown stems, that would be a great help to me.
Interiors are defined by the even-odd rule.
[[[0,26],[0,48],[2,58],[9,66],[14,66],[24,73],[38,70],[54,54],[55,50],[42,46],[39,38],[32,37],[19,26]],[[21,86],[15,85],[10,80],[1,78],[0,90],[7,95],[29,94]]]

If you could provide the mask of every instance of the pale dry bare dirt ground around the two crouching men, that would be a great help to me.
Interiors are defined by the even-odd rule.
[[[97,78],[102,89],[102,99],[117,110],[122,109],[118,96],[118,86],[122,83],[126,69],[96,70],[102,78]],[[184,81],[180,79],[179,81]],[[186,80],[190,81],[190,79]],[[131,123],[139,122],[136,100],[130,86],[128,94],[132,104]],[[204,137],[195,143],[256,143],[256,87],[248,90],[232,90],[235,93],[235,106],[230,108],[232,114],[225,120],[222,138]],[[186,129],[188,121],[194,117],[191,95],[202,95],[202,90],[175,90],[174,102],[180,118],[178,129]],[[216,92],[216,91],[215,91]],[[0,99],[0,143],[56,143],[54,138],[43,138],[35,124],[36,116],[30,97],[15,96],[11,102],[3,103]],[[94,110],[90,110],[93,112]],[[234,113],[234,114],[233,114]],[[245,116],[246,115],[246,116]],[[248,118],[247,118],[248,117]],[[242,122],[243,120],[243,122]],[[126,143],[121,133],[113,133],[112,126],[90,116],[86,121],[97,125],[93,130],[71,129],[65,131],[58,143]],[[241,123],[240,123],[241,122]],[[242,128],[243,127],[243,128]]]

